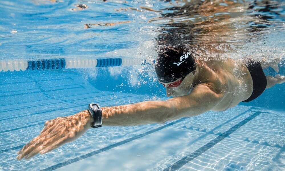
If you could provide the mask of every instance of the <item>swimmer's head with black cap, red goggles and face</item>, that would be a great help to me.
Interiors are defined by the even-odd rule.
[[[154,68],[168,97],[187,95],[197,73],[192,53],[183,46],[160,49]]]

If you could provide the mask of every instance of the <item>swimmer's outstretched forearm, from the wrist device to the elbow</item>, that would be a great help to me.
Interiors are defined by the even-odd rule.
[[[106,126],[135,126],[168,121],[175,107],[167,101],[143,101],[129,105],[102,107]]]

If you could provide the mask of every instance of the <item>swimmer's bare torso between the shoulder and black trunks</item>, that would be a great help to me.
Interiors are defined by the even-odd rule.
[[[214,111],[224,111],[248,99],[253,91],[249,70],[239,60],[233,59],[196,59],[203,82],[213,84],[214,91],[223,93],[223,100]]]

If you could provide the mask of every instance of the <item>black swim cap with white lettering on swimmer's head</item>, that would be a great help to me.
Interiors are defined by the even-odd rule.
[[[158,81],[174,82],[196,70],[195,59],[185,47],[165,47],[160,49],[154,66]]]

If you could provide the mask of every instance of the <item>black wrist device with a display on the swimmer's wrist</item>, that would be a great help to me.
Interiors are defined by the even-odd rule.
[[[94,119],[94,123],[91,125],[92,128],[102,127],[102,110],[99,104],[91,103],[88,105],[88,111]]]

